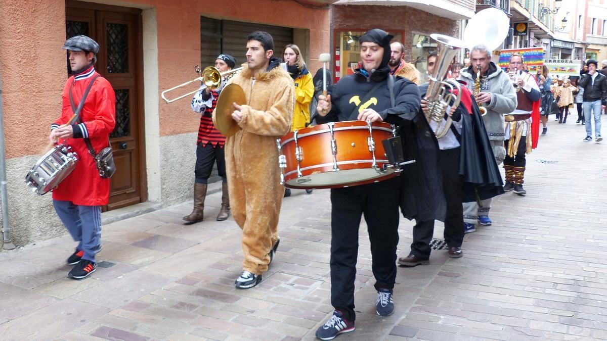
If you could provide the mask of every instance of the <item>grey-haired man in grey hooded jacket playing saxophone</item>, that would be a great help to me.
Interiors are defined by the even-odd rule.
[[[504,113],[513,112],[517,107],[517,95],[510,77],[491,61],[491,52],[483,44],[470,50],[470,66],[461,70],[458,80],[464,81],[470,90],[474,90],[476,74],[480,72],[480,92],[475,96],[476,103],[487,110],[483,122],[493,155],[497,164],[506,157],[504,149]],[[464,229],[474,232],[478,221],[481,225],[491,225],[489,209],[491,198],[479,198],[478,202],[464,203]],[[480,203],[480,205],[479,205]]]

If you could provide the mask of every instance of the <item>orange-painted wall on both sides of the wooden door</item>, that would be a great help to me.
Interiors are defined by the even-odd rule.
[[[312,72],[320,67],[318,55],[329,49],[329,10],[303,7],[294,1],[124,2],[157,9],[159,92],[195,78],[192,66],[200,64],[201,15],[310,29]],[[115,5],[115,1],[107,3]],[[0,1],[0,76],[7,158],[37,155],[47,142],[50,123],[61,111],[61,90],[67,77],[66,55],[61,49],[64,32],[64,0]],[[188,100],[173,104],[160,101],[161,136],[197,131],[199,118]]]

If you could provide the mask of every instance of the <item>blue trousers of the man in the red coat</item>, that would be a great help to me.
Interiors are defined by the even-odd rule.
[[[75,205],[72,201],[53,200],[55,211],[73,240],[76,251],[83,250],[83,259],[96,263],[95,254],[101,246],[101,206]]]

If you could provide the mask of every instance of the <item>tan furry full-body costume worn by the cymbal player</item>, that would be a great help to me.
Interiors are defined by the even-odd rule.
[[[263,274],[278,239],[278,218],[285,187],[280,185],[276,139],[291,129],[294,84],[281,67],[243,70],[229,83],[242,87],[242,130],[225,144],[226,174],[232,216],[242,229],[243,270]],[[215,112],[213,112],[215,123]]]

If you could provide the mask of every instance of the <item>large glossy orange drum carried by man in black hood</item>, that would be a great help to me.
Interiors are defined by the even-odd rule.
[[[281,184],[290,188],[339,188],[398,175],[382,140],[396,135],[387,123],[343,121],[288,133],[277,140]]]

